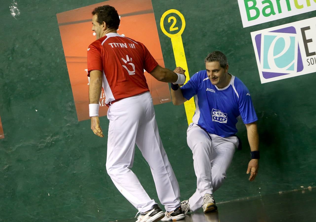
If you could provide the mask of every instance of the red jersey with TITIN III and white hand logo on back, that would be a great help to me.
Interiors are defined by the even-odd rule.
[[[90,71],[103,71],[102,87],[106,104],[149,91],[144,70],[158,65],[143,43],[118,33],[109,33],[88,47]]]

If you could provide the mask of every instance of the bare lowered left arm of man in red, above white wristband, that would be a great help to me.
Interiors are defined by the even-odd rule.
[[[90,83],[89,83],[89,103],[98,104],[100,100],[102,90],[102,73],[99,70],[93,70],[90,72]]]

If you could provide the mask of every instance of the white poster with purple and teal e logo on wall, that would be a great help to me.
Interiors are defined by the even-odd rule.
[[[251,33],[261,83],[316,71],[316,17]]]

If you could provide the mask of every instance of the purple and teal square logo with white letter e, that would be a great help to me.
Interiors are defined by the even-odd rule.
[[[303,70],[295,27],[290,26],[255,36],[260,69],[265,79]]]

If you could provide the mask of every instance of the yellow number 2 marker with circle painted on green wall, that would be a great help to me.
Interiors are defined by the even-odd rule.
[[[181,29],[179,30],[179,27],[176,26],[177,25],[176,17],[170,16],[168,18],[168,23],[171,23],[171,21],[172,21],[172,24],[169,28],[169,31],[171,32],[171,31],[179,30],[179,32],[174,33],[174,34],[168,33],[166,31],[165,27],[163,26],[164,19],[167,17],[167,15],[169,15],[171,13],[175,13],[175,14],[179,15],[179,17],[182,21],[182,26],[181,26]],[[180,66],[186,70],[185,71],[185,75],[186,75],[185,83],[186,83],[187,81],[189,81],[190,75],[189,75],[189,71],[188,71],[188,65],[187,65],[186,59],[185,59],[184,47],[183,47],[183,42],[182,42],[182,37],[181,37],[181,34],[183,33],[184,28],[185,28],[184,17],[178,10],[169,9],[161,16],[160,27],[161,27],[162,32],[171,39],[171,44],[172,44],[172,48],[173,48],[174,59],[176,61],[176,66]],[[190,124],[192,122],[192,117],[193,117],[194,111],[195,111],[195,103],[194,103],[193,97],[184,103],[184,107],[185,107],[185,113],[186,113],[186,118],[187,118],[188,124]]]

